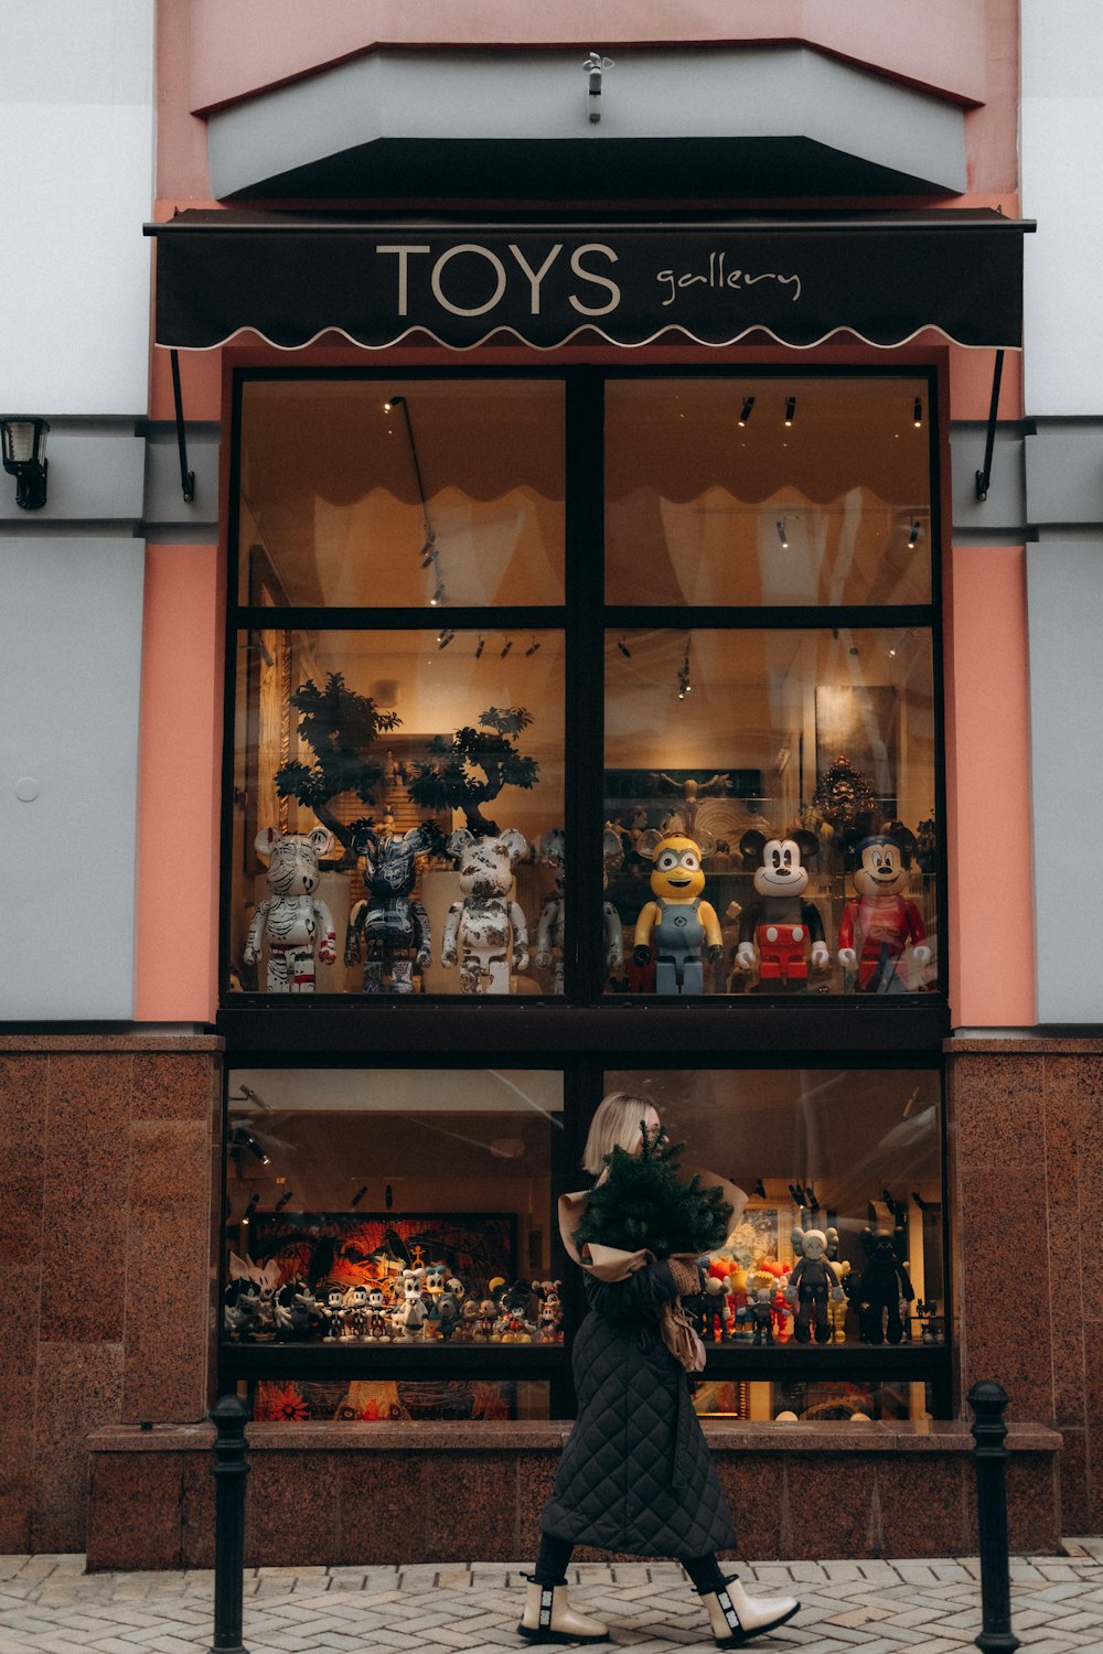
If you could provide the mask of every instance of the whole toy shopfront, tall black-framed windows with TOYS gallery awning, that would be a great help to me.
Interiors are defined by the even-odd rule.
[[[1029,227],[150,228],[159,344],[225,369],[218,1386],[276,1454],[546,1454],[623,1088],[751,1194],[711,1427],[961,1454],[946,341],[1019,346]]]

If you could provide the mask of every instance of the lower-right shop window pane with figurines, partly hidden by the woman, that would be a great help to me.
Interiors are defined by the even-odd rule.
[[[721,1290],[698,1312],[706,1345],[771,1345],[799,1358],[825,1343],[891,1355],[946,1341],[936,1073],[625,1070],[607,1073],[605,1088],[648,1098],[671,1140],[688,1145],[686,1166],[751,1196],[711,1259]],[[787,1293],[809,1231],[825,1240],[820,1267],[809,1269],[812,1245]]]

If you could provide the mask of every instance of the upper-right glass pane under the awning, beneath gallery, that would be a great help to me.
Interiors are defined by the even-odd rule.
[[[612,604],[931,599],[926,379],[605,385]]]

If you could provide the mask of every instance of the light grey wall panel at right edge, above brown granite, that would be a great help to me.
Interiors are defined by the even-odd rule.
[[[1103,1022],[1101,594],[1103,538],[1027,547],[1039,1022]]]

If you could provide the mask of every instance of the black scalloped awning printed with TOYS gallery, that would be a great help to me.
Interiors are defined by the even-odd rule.
[[[341,332],[369,349],[498,336],[640,346],[766,332],[905,344],[1022,344],[1027,220],[991,210],[804,213],[711,222],[501,223],[182,212],[157,238],[157,344],[203,351],[251,331],[281,349]]]

